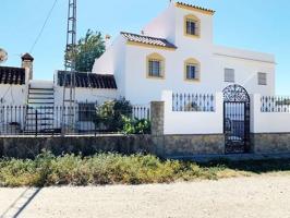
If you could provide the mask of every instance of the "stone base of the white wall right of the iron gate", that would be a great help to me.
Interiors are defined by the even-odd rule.
[[[255,133],[251,135],[252,153],[290,153],[290,133]]]

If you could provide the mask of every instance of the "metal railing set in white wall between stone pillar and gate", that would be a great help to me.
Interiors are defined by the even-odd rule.
[[[215,112],[213,94],[172,94],[173,111]]]

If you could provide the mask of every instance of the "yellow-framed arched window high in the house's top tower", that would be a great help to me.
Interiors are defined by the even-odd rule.
[[[193,14],[184,16],[184,35],[198,38],[201,36],[201,20]]]

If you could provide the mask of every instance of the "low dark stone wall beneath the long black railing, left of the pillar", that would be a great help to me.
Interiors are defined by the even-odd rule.
[[[55,155],[83,154],[95,155],[100,152],[121,154],[158,154],[158,138],[150,135],[100,135],[100,136],[41,136],[41,137],[1,137],[0,157],[34,158],[41,150]]]

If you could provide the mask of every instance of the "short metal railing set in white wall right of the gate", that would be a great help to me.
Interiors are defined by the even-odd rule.
[[[290,112],[290,96],[262,96],[262,112]]]

